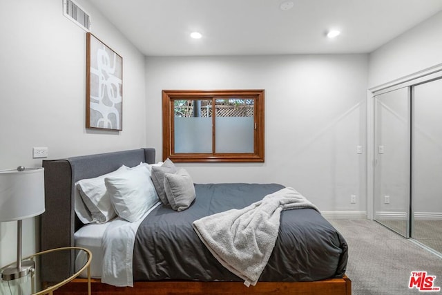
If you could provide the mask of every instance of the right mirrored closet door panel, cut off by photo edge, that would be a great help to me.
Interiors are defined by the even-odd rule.
[[[442,79],[414,86],[412,238],[442,253]]]

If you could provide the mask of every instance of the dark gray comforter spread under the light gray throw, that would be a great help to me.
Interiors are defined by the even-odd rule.
[[[134,280],[242,281],[216,260],[192,222],[241,209],[282,189],[280,184],[195,184],[196,198],[181,212],[159,206],[143,220],[133,253]],[[347,243],[314,209],[282,211],[275,248],[260,281],[311,281],[342,277]]]

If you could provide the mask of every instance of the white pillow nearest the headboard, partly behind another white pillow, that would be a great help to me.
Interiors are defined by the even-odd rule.
[[[128,167],[123,165],[119,167],[119,169],[111,173],[107,173],[96,178],[79,180],[75,183],[75,186],[79,190],[81,199],[90,211],[90,216],[92,217],[92,220],[90,222],[102,223],[111,220],[112,218],[117,216],[117,213],[115,213],[115,210],[113,209],[111,198],[109,198],[106,191],[104,178],[118,175],[119,173],[123,173],[127,170]],[[75,207],[81,209],[80,204],[76,203]],[[81,213],[80,210],[78,211],[79,213]],[[84,215],[84,213],[81,213],[81,215]]]

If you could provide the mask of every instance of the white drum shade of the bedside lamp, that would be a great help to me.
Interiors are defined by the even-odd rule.
[[[44,168],[0,171],[0,221],[44,212]]]

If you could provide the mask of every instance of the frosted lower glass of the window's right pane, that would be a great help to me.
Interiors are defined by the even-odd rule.
[[[253,117],[216,117],[216,153],[253,153]]]

